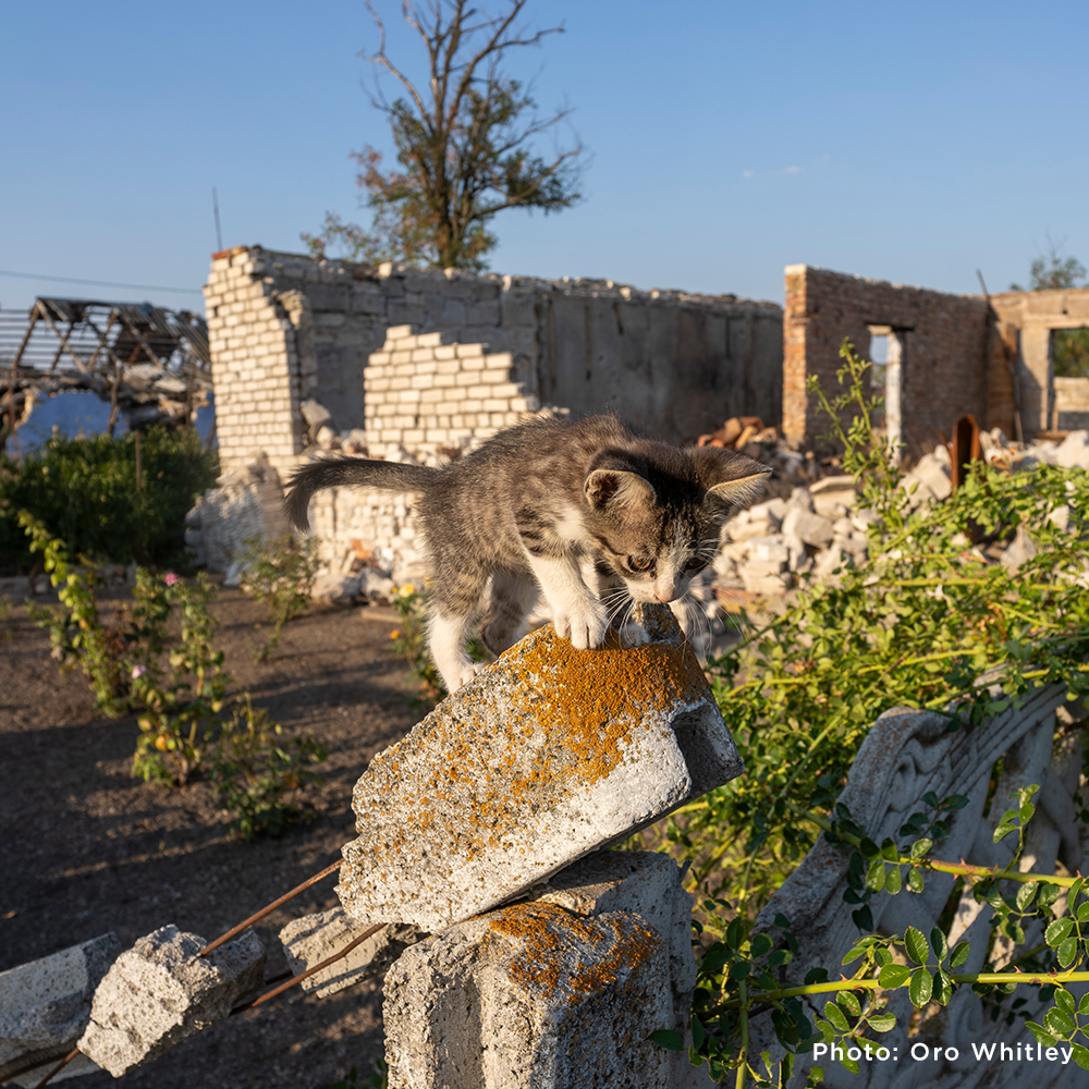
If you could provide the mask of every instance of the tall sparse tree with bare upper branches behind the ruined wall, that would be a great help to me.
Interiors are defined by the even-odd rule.
[[[467,0],[402,0],[405,22],[427,52],[429,79],[419,89],[386,52],[386,26],[371,3],[379,30],[374,53],[359,56],[392,75],[402,94],[392,102],[376,81],[371,103],[386,114],[396,147],[397,169],[383,170],[371,146],[355,152],[357,184],[375,213],[366,230],[326,215],[318,235],[303,235],[315,256],[339,244],[351,259],[436,268],[481,269],[497,243],[491,219],[507,208],[539,208],[546,215],[579,199],[583,146],[552,154],[534,151],[535,138],[555,136],[570,108],[541,118],[530,89],[503,70],[504,54],[537,46],[562,26],[528,32],[516,26],[528,0],[506,0],[488,14]]]

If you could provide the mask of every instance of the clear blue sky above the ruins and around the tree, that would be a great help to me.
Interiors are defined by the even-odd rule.
[[[418,50],[377,0],[389,50]],[[575,107],[585,200],[495,221],[498,272],[782,301],[808,262],[947,291],[1027,279],[1047,236],[1089,264],[1089,5],[530,0],[566,33],[512,56]],[[362,2],[9,4],[0,270],[198,287],[216,247],[301,250],[356,207],[348,152],[388,147]],[[1072,59],[1073,58],[1073,59]],[[0,277],[36,294],[195,294]]]

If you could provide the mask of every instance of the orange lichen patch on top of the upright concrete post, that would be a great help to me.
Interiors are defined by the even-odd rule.
[[[556,904],[515,904],[497,913],[488,929],[485,947],[493,945],[493,933],[521,946],[506,965],[515,982],[568,1005],[600,994],[662,947],[661,937],[634,916],[587,919]]]

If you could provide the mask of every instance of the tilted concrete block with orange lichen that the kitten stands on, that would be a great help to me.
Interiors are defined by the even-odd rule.
[[[672,614],[643,625],[646,645],[600,650],[547,625],[379,754],[353,794],[347,913],[436,933],[738,775]]]

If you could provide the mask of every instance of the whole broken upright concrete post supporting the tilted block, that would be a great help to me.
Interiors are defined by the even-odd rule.
[[[414,945],[387,974],[391,1089],[696,1085],[686,1052],[648,1039],[688,1032],[692,897],[676,864],[599,852],[531,895]]]

